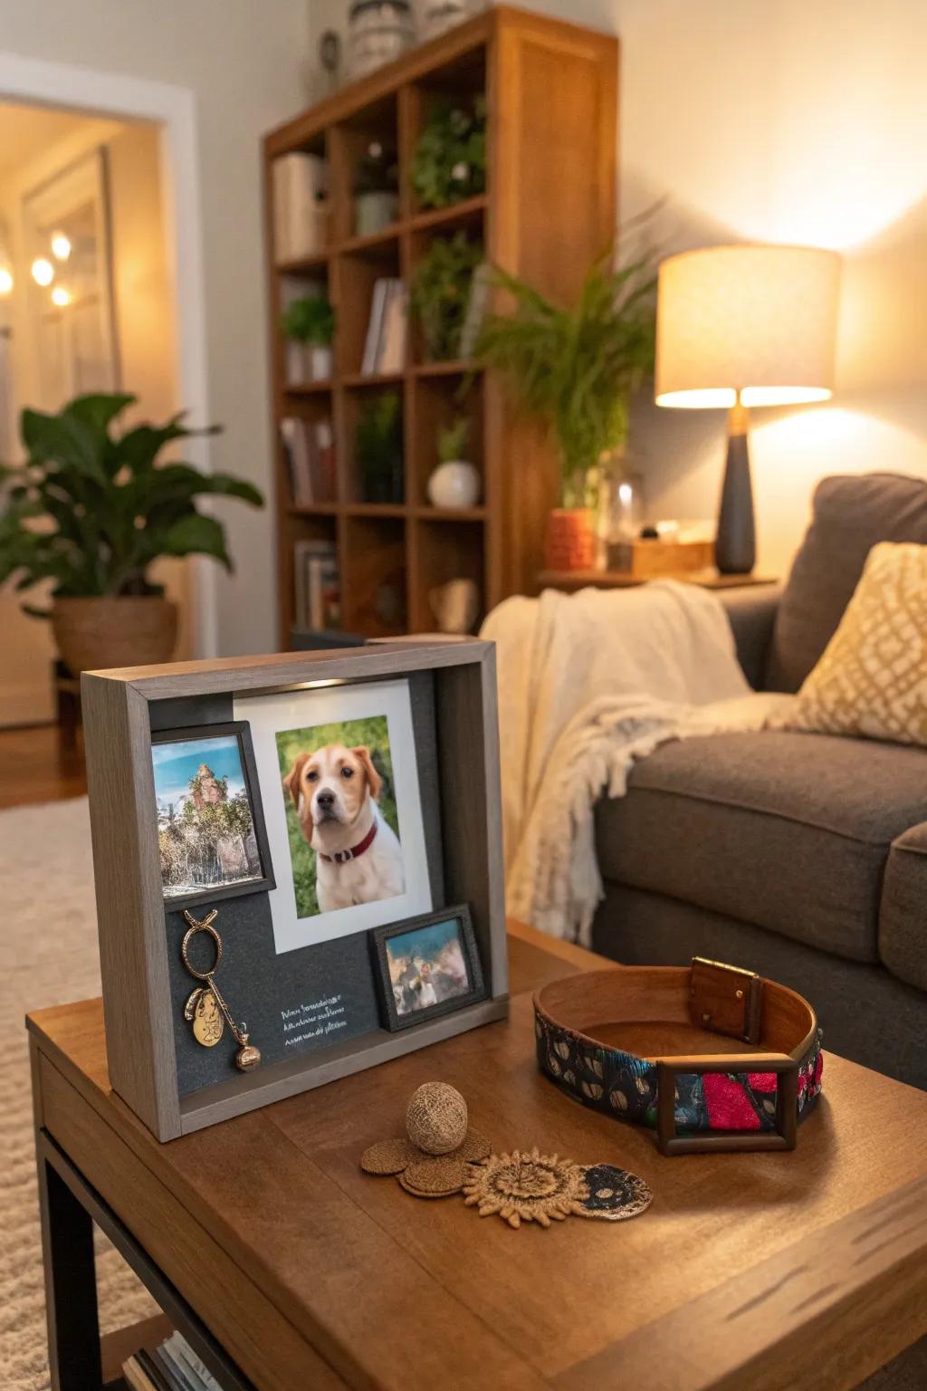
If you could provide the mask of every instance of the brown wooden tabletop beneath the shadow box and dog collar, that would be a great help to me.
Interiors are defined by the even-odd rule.
[[[168,1145],[110,1091],[100,1002],[42,1010],[38,1123],[260,1391],[841,1391],[927,1331],[927,1095],[827,1054],[794,1153],[664,1159],[536,1070],[531,990],[605,963],[518,925],[510,960],[509,1021]],[[363,1174],[431,1078],[653,1206],[511,1231]]]

